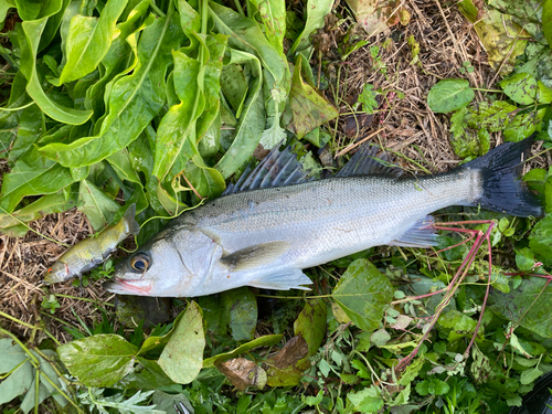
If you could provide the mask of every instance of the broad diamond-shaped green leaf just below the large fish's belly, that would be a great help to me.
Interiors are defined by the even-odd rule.
[[[379,327],[383,312],[393,299],[393,286],[369,261],[351,263],[333,288],[331,297],[359,328]]]

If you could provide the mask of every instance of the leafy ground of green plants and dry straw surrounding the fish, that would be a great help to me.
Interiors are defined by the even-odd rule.
[[[551,17],[550,0],[1,0],[3,412],[520,406],[552,371]],[[436,225],[476,233],[443,231],[438,255],[371,248],[308,270],[308,294],[153,299],[121,320],[112,259],[82,288],[41,285],[128,205],[141,244],[286,138],[332,171],[373,140],[412,174],[535,131],[523,179],[548,215],[449,209]]]

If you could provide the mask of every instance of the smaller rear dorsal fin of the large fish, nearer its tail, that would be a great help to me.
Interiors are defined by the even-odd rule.
[[[351,157],[349,162],[339,171],[336,177],[351,176],[388,176],[401,177],[403,171],[399,167],[390,166],[385,153],[375,157],[378,147],[363,145]]]

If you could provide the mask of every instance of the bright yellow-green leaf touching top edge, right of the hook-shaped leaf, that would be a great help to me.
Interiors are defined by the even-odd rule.
[[[115,35],[115,25],[128,0],[108,0],[99,18],[81,14],[71,19],[68,36],[65,40],[65,59],[56,86],[77,81],[93,72],[104,59]]]

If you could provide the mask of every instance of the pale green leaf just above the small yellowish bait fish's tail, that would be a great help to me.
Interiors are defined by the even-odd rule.
[[[96,232],[112,224],[120,208],[88,180],[81,181],[77,205],[78,210],[86,214]]]

